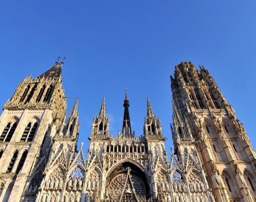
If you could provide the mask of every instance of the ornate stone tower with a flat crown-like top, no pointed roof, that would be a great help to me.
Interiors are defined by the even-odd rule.
[[[216,201],[255,201],[256,155],[215,80],[191,62],[177,65],[170,79],[175,154],[181,164],[190,161],[186,156],[198,164],[185,176],[191,199],[198,194],[191,184],[200,180]]]

